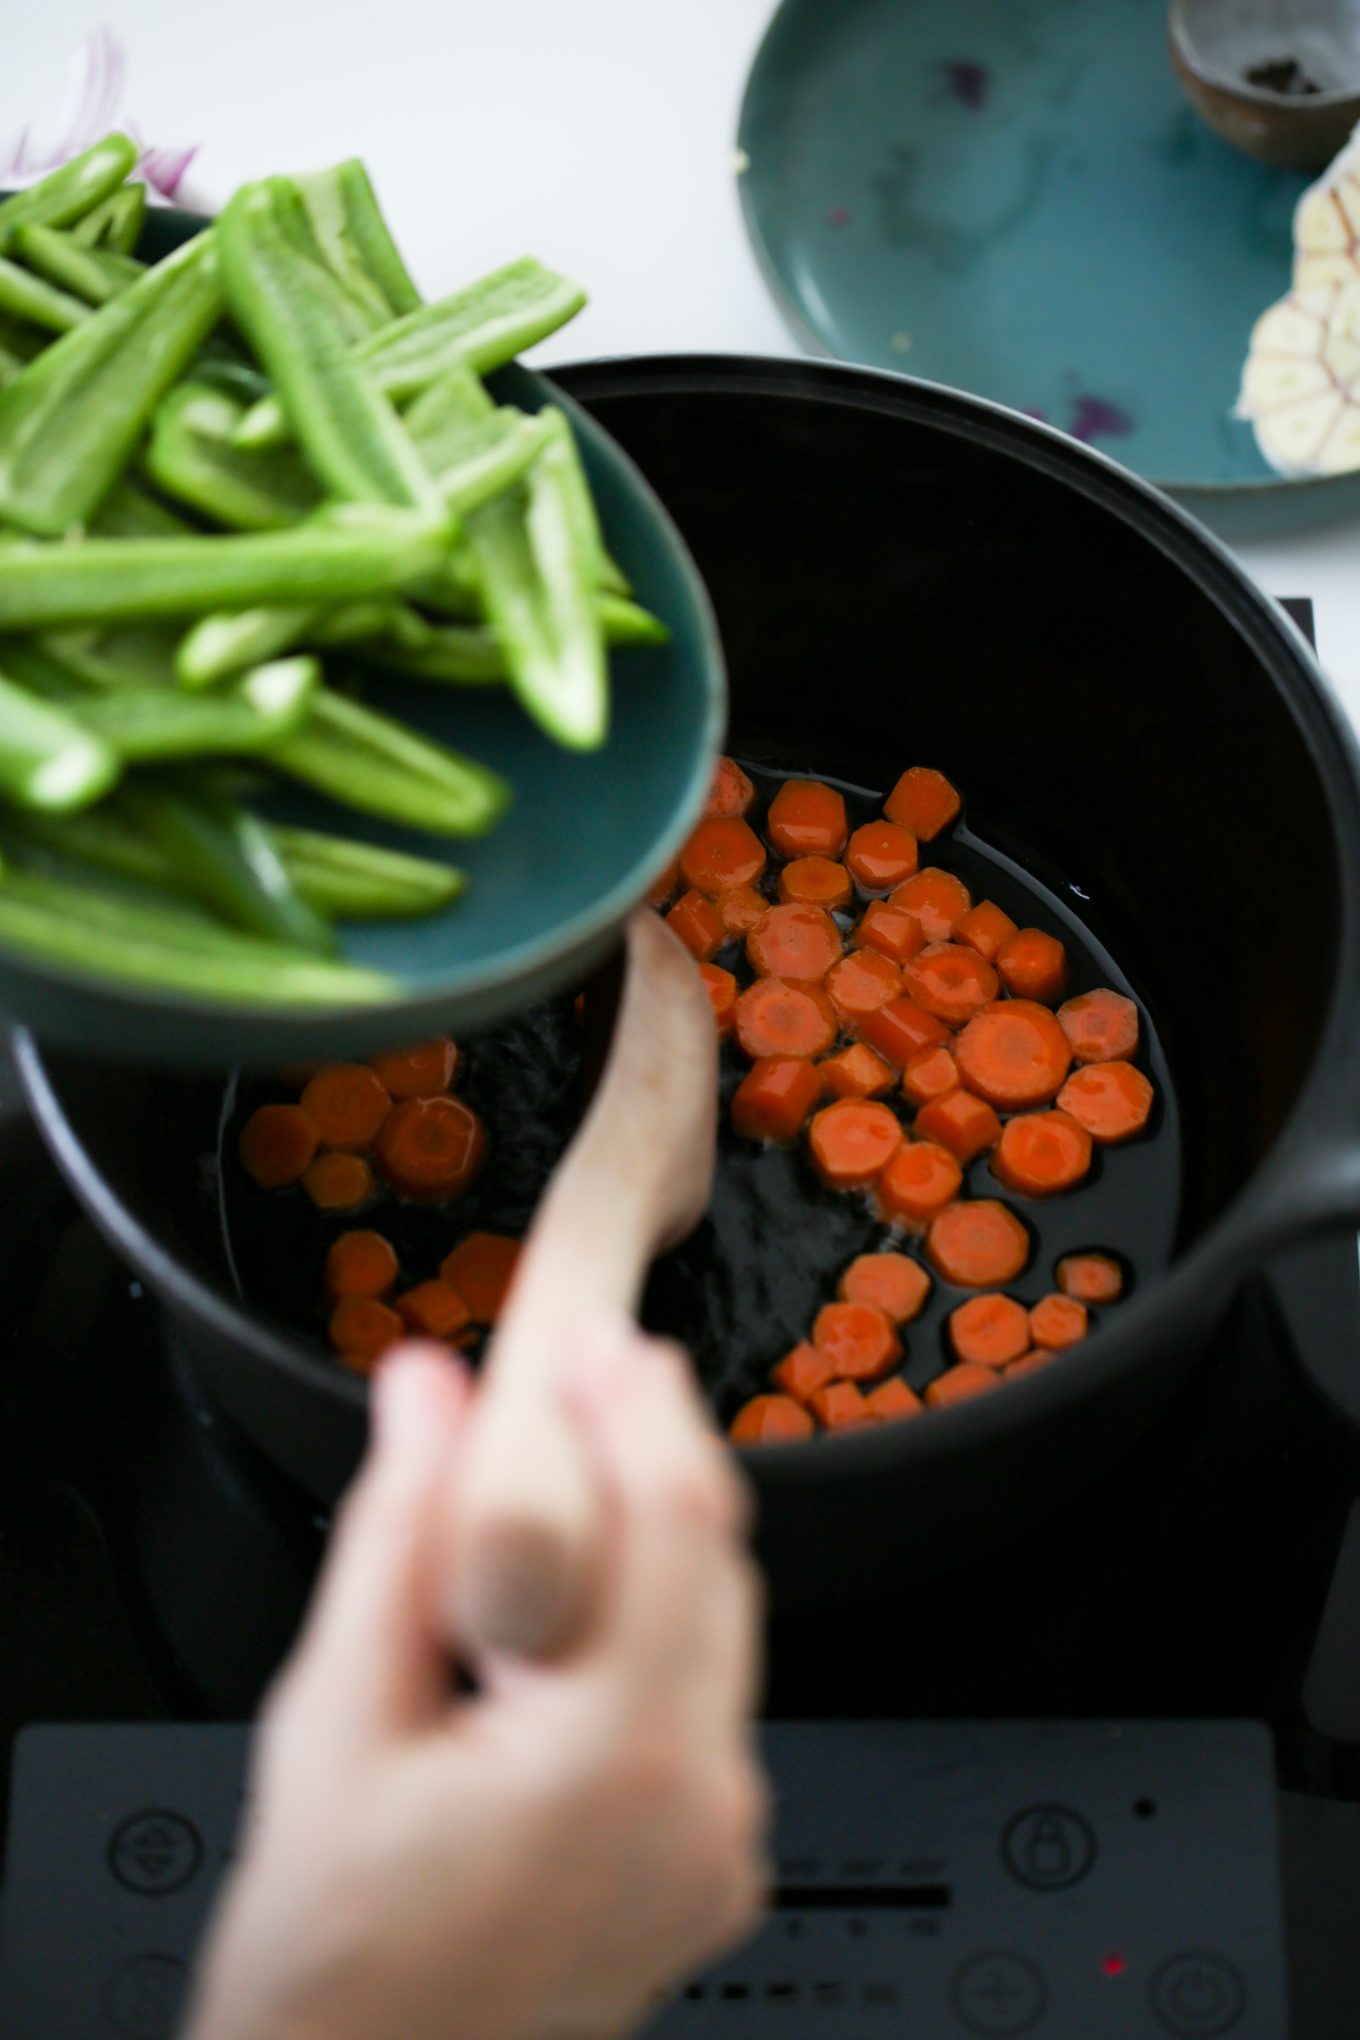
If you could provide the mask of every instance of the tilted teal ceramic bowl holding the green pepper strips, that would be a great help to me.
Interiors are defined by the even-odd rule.
[[[153,212],[159,257],[204,222]],[[579,979],[701,812],[722,738],[726,679],[703,583],[638,469],[553,384],[522,367],[491,379],[504,402],[561,404],[589,471],[610,551],[671,643],[614,653],[612,728],[595,753],[563,751],[504,687],[375,681],[369,698],[491,765],[514,787],[506,820],[477,843],[367,822],[287,789],[267,812],[444,857],[465,896],[428,920],[343,926],[345,955],[402,981],[389,1006],[279,1010],[192,1002],[35,967],[0,951],[0,1012],[45,1040],[163,1065],[267,1065],[367,1055],[428,1032],[483,1026]]]

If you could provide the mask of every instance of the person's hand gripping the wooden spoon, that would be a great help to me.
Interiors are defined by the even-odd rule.
[[[756,1922],[759,1589],[689,1363],[622,1320],[575,1340],[599,1608],[569,1656],[457,1697],[438,1501],[473,1393],[438,1346],[379,1369],[190,2040],[608,2040]]]

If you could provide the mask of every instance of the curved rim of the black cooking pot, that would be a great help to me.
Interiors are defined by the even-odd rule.
[[[926,1424],[875,1426],[832,1438],[765,1452],[750,1446],[738,1457],[761,1469],[767,1485],[799,1481],[814,1463],[834,1479],[854,1479],[871,1463],[909,1465],[922,1457],[966,1450],[999,1430],[1028,1428],[1068,1404],[1083,1401],[1101,1381],[1138,1369],[1146,1359],[1158,1316],[1174,1322],[1197,1291],[1232,1289],[1274,1244],[1287,1220],[1276,1210],[1280,1187],[1303,1173],[1327,1173],[1327,1118],[1336,1120],[1338,1083],[1346,1089],[1346,1120],[1360,1149],[1360,1051],[1348,1040],[1348,1016],[1360,1010],[1360,745],[1309,641],[1293,618],[1260,590],[1230,549],[1154,483],[1109,455],[1085,447],[1054,426],[1011,412],[989,398],[969,396],[922,377],[887,369],[805,361],[781,355],[620,355],[553,365],[571,396],[650,394],[681,396],[722,390],[746,396],[799,398],[820,404],[883,410],[909,416],[952,437],[983,443],[1068,481],[1089,502],[1134,526],[1148,543],[1195,579],[1199,592],[1248,639],[1256,657],[1287,683],[1287,700],[1327,794],[1338,845],[1340,940],[1327,1014],[1311,1069],[1268,1155],[1238,1187],[1179,1259],[1148,1287],[1138,1285],[1115,1322],[1105,1322],[1081,1353],[1058,1355],[1024,1383],[1009,1383],[999,1397],[983,1395],[932,1412]],[[216,1338],[245,1348],[253,1359],[279,1367],[332,1404],[359,1412],[367,1383],[343,1373],[302,1340],[271,1330],[241,1302],[228,1299],[177,1263],[110,1189],[92,1165],[65,1116],[43,1061],[43,1049],[24,1028],[14,1034],[14,1059],[29,1106],[67,1183],[106,1238],[133,1263],[171,1310],[202,1320]],[[1319,1159],[1309,1167],[1309,1151]],[[1305,1200],[1307,1204],[1307,1200]],[[1313,1214],[1315,1216],[1315,1214]],[[1309,1212],[1301,1214],[1307,1224]]]

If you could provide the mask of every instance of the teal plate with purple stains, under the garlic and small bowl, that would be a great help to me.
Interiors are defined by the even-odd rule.
[[[1309,180],[1199,122],[1164,0],[785,0],[740,149],[809,349],[1044,418],[1234,534],[1360,510],[1232,416]]]

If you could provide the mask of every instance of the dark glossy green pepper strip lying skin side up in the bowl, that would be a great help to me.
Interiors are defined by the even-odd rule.
[[[298,896],[265,824],[247,808],[196,779],[184,792],[126,785],[122,806],[232,926],[316,955],[334,951],[334,932]]]

